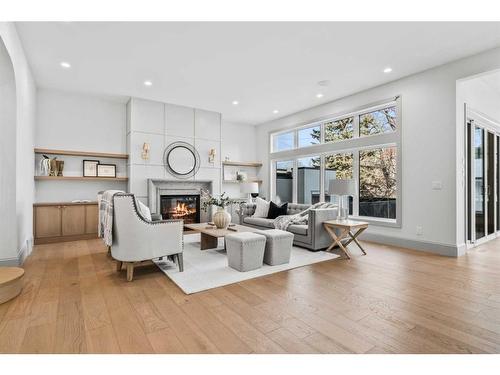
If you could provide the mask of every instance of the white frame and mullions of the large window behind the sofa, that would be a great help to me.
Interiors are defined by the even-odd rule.
[[[367,112],[376,111],[378,109],[396,107],[396,121],[397,128],[394,132],[372,134],[361,137],[359,134],[359,116]],[[330,121],[341,120],[343,118],[353,117],[354,137],[350,139],[342,139],[335,142],[325,143],[324,124]],[[269,132],[270,148],[269,148],[269,170],[270,170],[270,184],[269,196],[272,199],[276,197],[276,181],[275,181],[275,167],[277,161],[293,161],[294,174],[297,173],[297,160],[309,156],[319,156],[321,158],[320,167],[320,200],[325,200],[325,186],[324,186],[324,170],[325,170],[325,156],[337,153],[353,153],[353,178],[359,181],[359,152],[368,149],[379,149],[385,147],[396,147],[396,218],[385,219],[377,217],[359,216],[359,194],[354,197],[353,202],[353,219],[359,219],[370,222],[377,226],[388,226],[401,228],[402,226],[402,98],[400,95],[380,100],[375,103],[361,106],[354,110],[346,111],[336,115],[323,116],[316,118],[312,121],[304,122],[295,127],[287,127],[280,130]],[[306,147],[298,147],[298,131],[320,125],[321,136],[320,143]],[[284,151],[273,152],[273,137],[278,134],[295,132],[295,148]],[[293,180],[293,203],[297,203],[297,183],[298,180],[294,176]],[[359,186],[358,186],[359,188]]]

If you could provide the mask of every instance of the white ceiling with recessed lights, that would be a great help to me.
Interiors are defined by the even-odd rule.
[[[40,87],[143,97],[250,124],[500,45],[500,23],[21,22],[17,27]],[[71,69],[62,69],[61,61]],[[392,73],[382,73],[387,66]],[[145,80],[153,86],[145,87]],[[320,87],[320,80],[331,84]]]

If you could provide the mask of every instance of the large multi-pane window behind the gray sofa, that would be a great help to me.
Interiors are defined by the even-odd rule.
[[[350,215],[400,225],[400,100],[271,134],[270,159],[277,159],[271,197],[336,203],[338,196],[329,194],[330,181],[353,179],[358,192],[349,199]]]

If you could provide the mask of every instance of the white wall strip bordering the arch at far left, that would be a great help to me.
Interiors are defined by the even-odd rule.
[[[10,198],[16,202],[15,250],[17,258],[22,262],[23,258],[31,252],[33,238],[33,144],[36,86],[14,24],[0,22],[0,37],[12,60],[16,80],[16,194],[15,197]],[[11,159],[11,162],[12,160],[14,159]],[[11,214],[8,217],[12,218]],[[0,258],[2,258],[1,254]]]

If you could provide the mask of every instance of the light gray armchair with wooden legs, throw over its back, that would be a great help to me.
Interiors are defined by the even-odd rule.
[[[148,221],[137,208],[133,194],[113,197],[113,245],[111,256],[118,261],[117,270],[127,266],[127,280],[134,277],[134,266],[140,262],[173,258],[182,272],[182,220]]]

